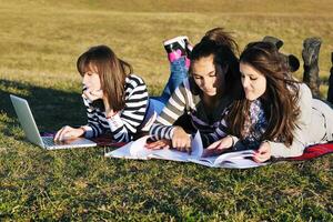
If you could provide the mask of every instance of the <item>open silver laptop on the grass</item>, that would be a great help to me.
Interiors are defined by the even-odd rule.
[[[24,134],[31,143],[37,144],[47,150],[88,148],[97,145],[95,142],[85,138],[75,138],[65,141],[53,141],[53,137],[41,137],[34,122],[28,101],[12,94],[10,94],[10,100],[14,107]]]

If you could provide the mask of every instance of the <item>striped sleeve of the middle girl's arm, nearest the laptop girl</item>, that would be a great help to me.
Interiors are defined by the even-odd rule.
[[[150,134],[154,139],[172,139],[174,125],[173,123],[185,112],[186,104],[186,89],[184,82],[182,82],[172,93],[162,112],[152,124]],[[188,94],[191,94],[189,92]]]

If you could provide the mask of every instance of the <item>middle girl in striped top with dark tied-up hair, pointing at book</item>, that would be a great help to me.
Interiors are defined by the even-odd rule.
[[[148,148],[170,145],[190,151],[191,137],[183,127],[173,125],[183,114],[190,115],[186,127],[202,133],[204,147],[216,140],[210,133],[215,131],[223,111],[241,89],[236,50],[235,41],[223,29],[206,32],[190,54],[189,78],[172,93],[150,130],[159,141]]]

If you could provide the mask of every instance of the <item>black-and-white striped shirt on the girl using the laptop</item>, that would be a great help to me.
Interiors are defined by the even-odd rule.
[[[105,112],[100,108],[92,108],[91,102],[83,99],[88,115],[88,124],[83,125],[85,138],[111,132],[114,142],[129,142],[133,139],[148,109],[147,85],[140,77],[130,74],[125,78],[124,92],[124,108],[108,119]]]

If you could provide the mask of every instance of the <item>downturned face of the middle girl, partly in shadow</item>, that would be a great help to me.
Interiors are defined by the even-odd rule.
[[[218,94],[218,82],[214,57],[201,58],[193,62],[192,77],[196,85],[202,90],[204,95],[214,97]]]

